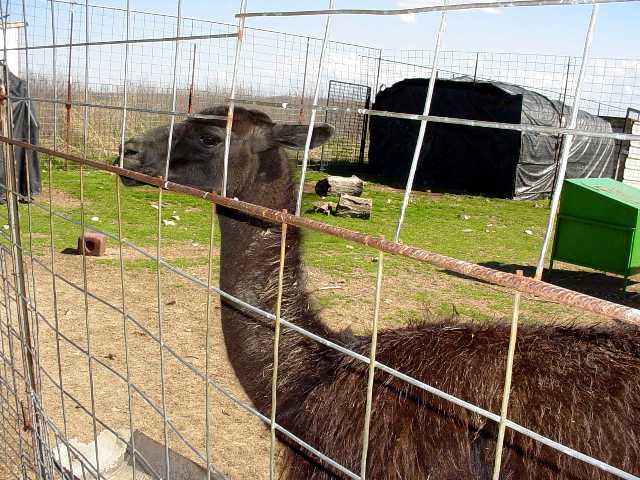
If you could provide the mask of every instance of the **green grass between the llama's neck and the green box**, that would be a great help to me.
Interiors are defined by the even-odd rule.
[[[323,175],[313,172],[309,179]],[[305,194],[306,216],[364,233],[393,238],[403,193],[367,183],[363,196],[373,200],[370,220],[346,219],[310,213],[316,195]],[[532,265],[542,241],[548,210],[546,201],[513,201],[470,195],[426,195],[411,198],[401,232],[403,243],[475,263]],[[466,217],[469,217],[466,219]],[[527,234],[529,230],[532,234]],[[320,266],[327,249],[340,251],[345,242],[308,234],[306,260]],[[322,244],[322,248],[321,248]],[[354,252],[371,252],[354,245]],[[394,263],[392,261],[392,263]]]

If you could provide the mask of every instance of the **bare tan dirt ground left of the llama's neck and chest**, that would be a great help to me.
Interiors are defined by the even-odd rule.
[[[185,252],[180,251],[179,254],[184,257]],[[45,265],[50,265],[50,258],[41,260]],[[60,427],[64,426],[63,418],[66,418],[69,437],[90,440],[93,436],[93,383],[97,430],[104,429],[104,424],[113,429],[127,430],[130,426],[128,373],[130,383],[135,385],[131,391],[133,428],[162,441],[165,428],[161,415],[164,393],[171,448],[203,463],[173,432],[172,427],[196,450],[206,451],[206,386],[201,376],[207,370],[205,289],[170,272],[161,274],[162,335],[168,347],[163,352],[161,362],[156,273],[149,269],[126,273],[125,310],[135,322],[129,320],[125,327],[122,312],[118,311],[123,304],[119,269],[96,260],[98,258],[87,257],[87,287],[91,292],[86,300],[88,317],[85,316],[82,291],[81,256],[56,255],[55,303],[51,273],[36,265],[35,291],[32,277],[30,274],[28,276],[29,289],[35,293],[32,298],[42,314],[37,342],[39,363],[51,376],[51,379],[43,376],[42,385],[47,415]],[[113,307],[105,302],[113,304]],[[248,402],[227,357],[217,298],[213,299],[213,307],[209,321],[210,378],[225,391]],[[15,321],[15,315],[13,319]],[[54,328],[56,323],[59,336]],[[91,377],[85,353],[89,348],[96,357],[91,361]],[[189,365],[178,361],[169,349]],[[127,353],[128,372],[125,361]],[[164,369],[164,375],[161,375],[161,369]],[[200,373],[194,373],[194,370]],[[66,392],[64,410],[58,387],[60,383]],[[230,479],[268,478],[269,434],[264,424],[216,388],[209,387],[208,396],[208,439],[215,467]]]

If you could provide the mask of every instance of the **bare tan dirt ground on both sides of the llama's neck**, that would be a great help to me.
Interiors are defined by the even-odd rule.
[[[172,258],[206,259],[207,246],[174,245],[163,249],[162,257],[168,261]],[[131,319],[123,322],[121,311],[116,310],[122,309],[123,291],[118,249],[113,245],[106,257],[87,257],[86,282],[91,295],[86,299],[82,288],[81,256],[56,254],[55,296],[54,278],[47,270],[51,268],[50,256],[38,257],[44,266],[34,262],[33,270],[29,271],[31,298],[40,312],[37,355],[42,368],[43,408],[47,416],[68,438],[89,441],[93,438],[94,429],[100,432],[104,425],[108,425],[125,431],[131,426],[162,442],[165,436],[164,405],[170,422],[166,435],[171,448],[203,463],[208,436],[209,458],[227,478],[268,478],[268,430],[258,418],[214,388],[208,390],[208,434],[206,431],[205,383],[193,371],[204,373],[207,369],[206,289],[174,272],[163,270],[160,305],[164,319],[162,336],[168,349],[161,356],[157,275],[148,265],[133,266],[131,260],[144,258],[139,253],[125,249],[124,258],[130,265],[125,274],[124,309],[139,325]],[[26,261],[31,266],[30,259]],[[207,267],[203,262],[185,268],[190,274],[206,280]],[[373,274],[352,275],[345,280],[319,269],[308,269],[307,273],[308,289],[324,305],[323,319],[327,323],[334,328],[351,328],[358,333],[369,331],[373,314]],[[385,282],[382,327],[398,325],[393,312],[419,310],[422,305],[417,292],[436,291],[451,281],[443,275],[409,272]],[[214,284],[217,284],[217,279]],[[334,297],[342,300],[332,303],[330,300]],[[115,305],[116,309],[104,302]],[[212,307],[210,377],[225,392],[248,403],[229,363],[220,325],[220,303],[215,295],[212,296]],[[5,317],[6,312],[2,313]],[[15,312],[10,322],[17,328]],[[125,348],[125,323],[128,348]],[[87,356],[81,349],[89,349],[96,357],[91,362],[91,375]],[[192,368],[178,361],[176,356]],[[127,375],[130,383],[135,385],[131,392],[124,381]],[[60,382],[65,392],[62,396]],[[92,421],[94,411],[95,424]],[[0,479],[4,478],[12,477],[0,469]]]

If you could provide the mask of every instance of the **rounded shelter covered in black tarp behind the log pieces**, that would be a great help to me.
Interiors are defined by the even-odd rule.
[[[414,78],[379,92],[373,109],[422,113],[429,79]],[[571,108],[517,85],[438,79],[432,115],[491,122],[559,126]],[[406,182],[420,122],[371,116],[369,166],[391,181]],[[578,128],[611,132],[611,125],[585,111]],[[420,152],[415,185],[499,198],[535,199],[553,190],[560,139],[557,136],[430,122]],[[574,137],[567,178],[613,177],[615,142]]]

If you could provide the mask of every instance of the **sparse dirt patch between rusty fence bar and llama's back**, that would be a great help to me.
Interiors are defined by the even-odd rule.
[[[334,329],[349,328],[370,334],[373,319],[375,278],[372,273],[353,272],[346,277],[307,268],[309,290],[320,301],[322,318]],[[577,272],[576,272],[577,273]],[[585,272],[582,272],[585,273]],[[618,280],[607,277],[608,290]],[[613,298],[613,301],[621,302]],[[624,302],[640,306],[640,296]],[[380,327],[398,328],[408,322],[434,316],[454,315],[461,320],[508,319],[513,292],[444,272],[428,265],[415,265],[383,276]],[[527,322],[602,322],[602,317],[540,298],[523,295],[520,317]]]

